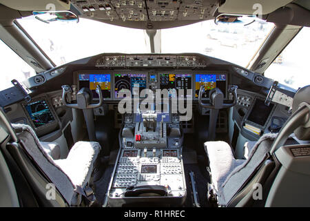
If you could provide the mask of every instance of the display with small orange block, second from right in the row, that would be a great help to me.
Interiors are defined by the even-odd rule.
[[[192,89],[192,75],[190,74],[161,74],[161,90],[167,89],[169,97],[177,97],[177,90],[184,89],[185,97],[187,89]]]

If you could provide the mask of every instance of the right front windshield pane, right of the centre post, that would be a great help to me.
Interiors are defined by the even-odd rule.
[[[169,28],[162,30],[162,52],[198,52],[245,67],[272,28],[265,21],[244,26],[213,20]]]

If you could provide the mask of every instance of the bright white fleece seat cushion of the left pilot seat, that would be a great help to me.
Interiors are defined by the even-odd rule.
[[[66,159],[54,162],[70,177],[74,185],[84,188],[90,180],[100,150],[98,142],[76,142]]]

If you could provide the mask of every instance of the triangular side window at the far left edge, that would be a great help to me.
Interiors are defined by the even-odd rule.
[[[12,79],[17,79],[21,82],[36,75],[35,70],[1,40],[0,67],[0,90],[12,87]]]

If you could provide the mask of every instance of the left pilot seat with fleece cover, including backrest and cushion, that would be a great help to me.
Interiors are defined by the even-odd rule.
[[[98,142],[76,142],[68,157],[59,159],[58,144],[40,142],[34,130],[26,124],[10,124],[2,109],[0,118],[1,128],[12,139],[7,144],[8,153],[19,165],[41,205],[80,206],[94,202],[89,184],[101,151]],[[50,184],[54,184],[57,195],[52,200],[46,197]]]

